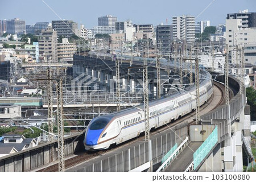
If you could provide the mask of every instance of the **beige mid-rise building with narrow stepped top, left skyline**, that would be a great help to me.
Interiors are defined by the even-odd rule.
[[[57,62],[57,32],[52,27],[42,30],[39,36],[39,55],[48,60],[51,57],[53,62]]]

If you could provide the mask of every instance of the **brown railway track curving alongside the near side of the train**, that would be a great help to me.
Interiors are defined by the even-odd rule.
[[[216,86],[216,88],[218,88],[218,90],[220,90],[220,92],[222,93],[221,95],[221,99],[220,101],[218,101],[218,104],[216,106],[213,107],[213,109],[216,109],[217,106],[224,104],[225,102],[225,86],[218,83],[218,82],[214,82],[214,86]],[[231,99],[233,97],[233,92],[232,90],[229,90],[230,94],[229,94],[229,98]],[[212,97],[209,98],[208,102],[205,103],[203,106],[200,107],[200,110],[204,110],[206,109],[213,101],[214,99],[214,94],[212,95]],[[211,109],[211,110],[213,110]],[[187,115],[184,115],[184,117],[177,119],[175,122],[173,123],[167,123],[166,125],[160,127],[157,130],[152,131],[150,134],[151,135],[155,135],[160,133],[161,131],[170,129],[171,127],[174,127],[175,125],[184,123],[184,122],[188,122],[189,124],[195,122],[193,121],[193,117],[195,117],[195,111],[193,111],[192,113],[189,113]],[[135,143],[138,142],[139,140],[143,140],[144,136],[139,136],[133,140],[129,140],[123,144],[119,144],[113,148],[109,148],[107,150],[103,150],[103,151],[86,151],[86,152],[82,152],[81,154],[73,157],[73,158],[69,158],[65,160],[65,168],[71,168],[71,167],[75,167],[83,162],[89,161],[90,159],[96,158],[97,156],[101,156],[106,154],[107,152],[109,152],[110,150],[118,150],[118,148],[121,148],[123,146],[129,145],[131,143]],[[41,172],[54,172],[54,171],[58,171],[58,164],[57,162],[55,162],[55,164],[53,164],[52,166],[48,166],[45,167],[43,169],[40,169],[39,171]]]

